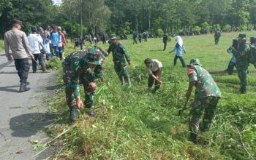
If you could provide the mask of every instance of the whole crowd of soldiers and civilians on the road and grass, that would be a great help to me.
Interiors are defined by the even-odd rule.
[[[48,26],[46,30],[43,31],[41,27],[33,25],[31,26],[31,33],[27,37],[23,31],[20,31],[22,26],[23,23],[20,20],[14,20],[12,30],[4,34],[6,56],[9,61],[12,61],[12,57],[15,59],[15,66],[18,70],[18,76],[20,76],[20,92],[29,90],[29,88],[26,87],[28,85],[27,78],[29,73],[29,59],[27,54],[31,57],[33,72],[37,72],[37,60],[39,60],[42,66],[42,72],[47,73],[48,71],[45,68],[43,55],[50,58],[55,54],[62,59],[64,47],[67,47],[65,35],[64,32],[61,31],[61,27],[54,26],[50,28],[50,26]],[[143,36],[138,36],[136,32],[133,32],[132,36],[134,44],[137,44],[138,37],[139,41],[143,39]],[[107,36],[103,37],[104,41],[108,39]],[[217,31],[217,33],[214,34],[214,42],[216,45],[219,43],[219,37],[220,32]],[[167,39],[168,37],[165,34],[163,36],[163,50],[166,49]],[[83,40],[94,44],[94,47],[83,49]],[[147,40],[145,39],[145,41]],[[197,143],[199,130],[205,132],[211,127],[221,92],[217,83],[211,77],[211,74],[203,68],[200,60],[193,58],[189,61],[189,64],[186,65],[182,57],[182,52],[186,53],[183,39],[181,36],[175,36],[175,41],[176,44],[173,49],[170,50],[170,53],[176,51],[173,65],[176,65],[176,61],[179,59],[182,67],[187,68],[189,78],[189,86],[186,93],[187,101],[189,100],[192,89],[195,87],[195,98],[194,102],[190,105],[191,109],[189,113],[189,140],[193,143]],[[229,73],[232,73],[233,67],[236,65],[238,77],[241,81],[239,90],[241,94],[246,93],[246,86],[248,84],[246,75],[248,73],[249,63],[256,66],[255,42],[255,39],[251,39],[251,44],[246,44],[246,34],[240,33],[238,37],[233,40],[233,44],[227,49],[227,52],[233,54],[233,59],[230,60],[227,69]],[[111,52],[113,54],[114,70],[121,84],[128,85],[128,87],[132,86],[127,70],[127,63],[131,65],[132,60],[129,57],[127,48],[118,41],[116,35],[110,36],[109,44],[108,49],[105,51],[97,47],[97,36],[92,37],[91,35],[87,35],[84,36],[84,38],[78,36],[77,41],[75,41],[75,47],[80,46],[80,50],[72,52],[63,60],[63,80],[66,86],[65,93],[71,121],[78,119],[78,109],[82,109],[84,105],[88,108],[88,114],[90,116],[97,115],[91,109],[94,103],[94,91],[97,88],[97,81],[105,80],[102,74],[102,64]],[[10,55],[9,47],[12,50],[12,56]],[[146,58],[144,63],[148,71],[148,89],[152,90],[153,84],[155,83],[152,92],[157,92],[163,84],[161,80],[163,64],[159,60],[151,58]],[[79,84],[83,84],[85,94],[84,101],[80,98]],[[202,115],[203,125],[200,127],[200,117]]]

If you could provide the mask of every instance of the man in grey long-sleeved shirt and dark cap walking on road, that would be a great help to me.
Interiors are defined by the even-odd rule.
[[[34,55],[31,52],[26,33],[20,31],[21,27],[23,27],[23,23],[20,20],[12,20],[12,30],[4,33],[4,49],[8,61],[12,62],[12,57],[15,60],[15,68],[20,77],[19,92],[25,92],[30,89],[26,87],[29,76],[28,55],[30,55],[31,59],[34,59]],[[9,48],[12,50],[12,55],[10,54]]]

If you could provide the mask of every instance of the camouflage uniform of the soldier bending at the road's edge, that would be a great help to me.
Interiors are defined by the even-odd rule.
[[[96,59],[100,57],[101,52],[99,49],[91,50],[95,52]],[[94,91],[89,89],[89,83],[94,81],[96,77],[89,68],[89,63],[91,60],[89,57],[88,50],[80,50],[78,52],[72,52],[68,55],[62,65],[63,65],[63,81],[66,85],[66,100],[67,105],[70,108],[70,117],[72,120],[76,119],[76,100],[75,98],[80,96],[79,82],[83,84],[85,92],[84,104],[86,108],[91,108],[94,101]],[[96,54],[97,52],[97,54]],[[95,58],[94,58],[95,59]],[[99,63],[99,62],[98,62]],[[98,65],[98,64],[95,64]],[[75,116],[74,116],[75,115]],[[73,117],[72,117],[73,116]]]

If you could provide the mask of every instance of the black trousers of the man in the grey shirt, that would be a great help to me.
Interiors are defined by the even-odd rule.
[[[15,67],[20,77],[20,83],[26,84],[29,76],[29,58],[15,59]]]

